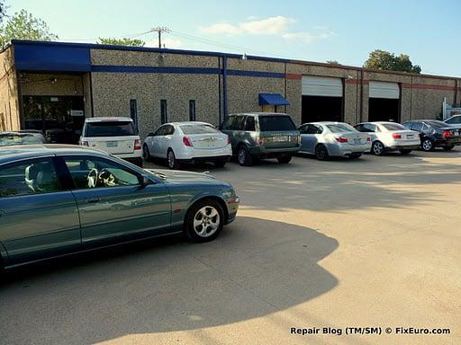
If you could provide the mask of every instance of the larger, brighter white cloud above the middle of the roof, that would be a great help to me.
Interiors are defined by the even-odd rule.
[[[252,35],[276,35],[288,30],[295,21],[281,15],[266,19],[230,24],[229,22],[217,22],[206,28],[201,28],[203,33],[224,33],[230,36],[239,34]]]

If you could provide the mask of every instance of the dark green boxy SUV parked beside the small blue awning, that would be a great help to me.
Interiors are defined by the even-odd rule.
[[[258,158],[276,158],[288,163],[301,148],[299,130],[284,113],[230,114],[220,129],[230,137],[239,164],[252,165]]]

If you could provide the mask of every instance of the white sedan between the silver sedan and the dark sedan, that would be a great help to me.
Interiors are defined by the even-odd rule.
[[[388,151],[400,151],[402,155],[408,155],[411,150],[420,147],[420,133],[404,128],[400,123],[363,122],[355,127],[371,137],[371,153],[374,155],[383,155]]]

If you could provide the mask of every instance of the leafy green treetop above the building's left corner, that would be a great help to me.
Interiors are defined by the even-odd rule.
[[[4,26],[0,27],[0,45],[10,40],[57,40],[58,36],[50,32],[48,24],[35,18],[26,10],[14,13]]]

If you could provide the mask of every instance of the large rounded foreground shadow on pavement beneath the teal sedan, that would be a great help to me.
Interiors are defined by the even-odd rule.
[[[15,270],[0,288],[2,342],[90,344],[272,314],[338,284],[318,264],[338,245],[239,217],[212,243],[171,237]]]

